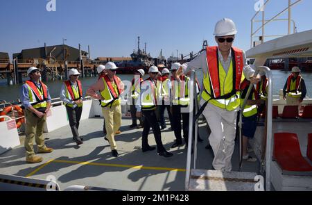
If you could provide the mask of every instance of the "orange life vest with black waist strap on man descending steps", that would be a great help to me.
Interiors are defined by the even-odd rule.
[[[220,79],[219,79],[219,57],[218,47],[207,47],[207,63],[209,67],[209,79],[211,83],[212,93],[205,92],[211,99],[227,99],[236,94],[241,84],[241,76],[243,74],[243,51],[236,47],[232,47],[232,62],[233,62],[233,90],[223,96],[220,96]]]

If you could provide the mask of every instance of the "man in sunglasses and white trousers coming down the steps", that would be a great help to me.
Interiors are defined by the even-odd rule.
[[[221,19],[214,31],[218,46],[207,47],[188,63],[185,71],[202,68],[204,79],[200,111],[211,129],[209,142],[215,155],[212,165],[214,169],[223,171],[232,170],[242,74],[253,84],[260,80],[260,76],[253,76],[254,70],[247,64],[245,53],[232,47],[236,33],[231,19]]]

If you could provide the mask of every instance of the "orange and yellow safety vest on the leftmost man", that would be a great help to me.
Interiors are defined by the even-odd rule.
[[[28,86],[29,102],[33,108],[46,108],[46,99],[48,99],[48,87],[40,81],[41,88],[38,88],[33,81],[25,81]]]

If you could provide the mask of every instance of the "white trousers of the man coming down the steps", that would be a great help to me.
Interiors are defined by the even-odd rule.
[[[235,146],[237,110],[228,111],[207,104],[202,115],[211,129],[209,136],[210,145],[214,151],[212,165],[215,170],[230,172],[232,170],[232,154]]]

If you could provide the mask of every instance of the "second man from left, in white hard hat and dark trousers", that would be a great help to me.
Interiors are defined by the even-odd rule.
[[[80,73],[77,69],[69,69],[68,75],[69,80],[64,81],[60,90],[60,99],[64,102],[67,110],[73,140],[77,145],[81,145],[83,138],[79,136],[78,128],[83,113],[83,86],[78,80]]]

